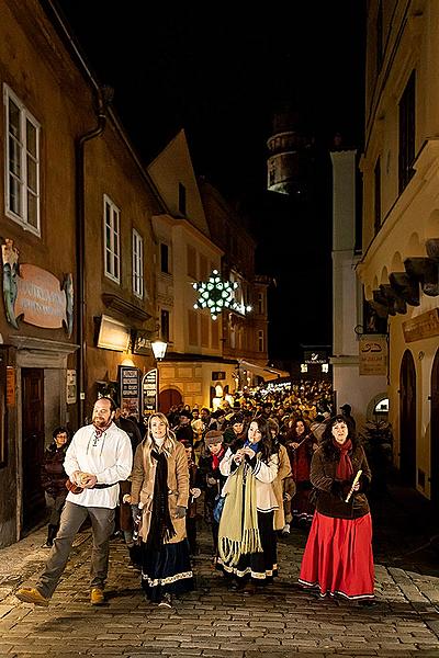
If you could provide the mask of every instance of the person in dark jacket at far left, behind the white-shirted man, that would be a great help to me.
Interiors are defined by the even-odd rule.
[[[68,430],[64,426],[55,428],[52,434],[53,441],[44,453],[41,483],[46,497],[46,506],[50,510],[47,527],[47,540],[44,548],[50,548],[59,527],[59,519],[66,502],[68,490],[66,481],[67,473],[64,470],[64,460],[68,447]]]

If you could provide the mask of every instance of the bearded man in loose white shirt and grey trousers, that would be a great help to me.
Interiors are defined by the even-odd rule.
[[[75,536],[87,517],[90,517],[93,535],[90,601],[92,605],[104,602],[119,481],[130,476],[133,466],[130,438],[114,424],[114,412],[115,405],[111,398],[98,399],[93,407],[92,423],[80,428],[72,438],[64,462],[71,486],[58,534],[36,587],[21,588],[15,592],[20,601],[48,605],[66,568]]]

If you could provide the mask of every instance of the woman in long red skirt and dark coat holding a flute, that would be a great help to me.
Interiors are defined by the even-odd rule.
[[[316,512],[299,578],[320,597],[341,595],[363,604],[374,598],[372,520],[364,495],[370,480],[364,450],[346,419],[336,416],[311,465]]]

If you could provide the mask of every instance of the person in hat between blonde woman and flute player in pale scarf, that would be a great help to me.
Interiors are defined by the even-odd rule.
[[[205,452],[200,457],[199,469],[204,489],[204,519],[212,527],[213,555],[216,561],[219,523],[215,521],[213,512],[226,481],[226,477],[219,470],[219,464],[225,455],[223,433],[218,430],[210,430],[204,436],[204,445]]]

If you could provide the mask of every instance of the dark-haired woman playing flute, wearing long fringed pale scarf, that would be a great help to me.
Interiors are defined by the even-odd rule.
[[[218,530],[217,567],[234,577],[232,589],[254,592],[278,575],[272,483],[279,470],[267,420],[256,418],[247,438],[234,442],[219,464],[227,476]]]

